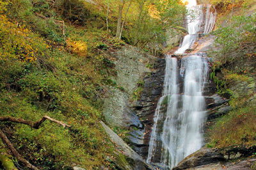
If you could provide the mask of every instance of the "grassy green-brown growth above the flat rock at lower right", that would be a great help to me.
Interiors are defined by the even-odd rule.
[[[227,147],[234,145],[253,145],[255,144],[255,104],[243,104],[244,99],[234,101],[235,109],[216,122],[210,134],[213,147]]]

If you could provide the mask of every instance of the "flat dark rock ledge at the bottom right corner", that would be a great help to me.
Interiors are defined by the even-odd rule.
[[[246,148],[237,146],[220,150],[216,148],[201,148],[184,158],[173,170],[179,169],[251,169],[255,166],[256,158],[252,155],[256,146]],[[251,156],[251,158],[250,158]],[[245,158],[244,157],[249,157]]]

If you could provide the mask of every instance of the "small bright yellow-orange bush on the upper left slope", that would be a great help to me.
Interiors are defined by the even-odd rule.
[[[70,47],[72,52],[78,54],[79,56],[87,56],[87,45],[82,41],[73,41],[70,38],[66,40],[67,45]]]

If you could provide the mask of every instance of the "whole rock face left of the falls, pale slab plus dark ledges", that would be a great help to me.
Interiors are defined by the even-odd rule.
[[[135,47],[124,47],[109,55],[115,58],[117,74],[111,79],[122,88],[108,86],[103,107],[106,123],[129,130],[128,143],[146,158],[154,112],[163,89],[165,59],[150,56]],[[131,101],[139,81],[143,81],[142,95],[140,100]]]

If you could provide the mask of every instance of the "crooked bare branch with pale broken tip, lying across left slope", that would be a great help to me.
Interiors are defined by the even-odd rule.
[[[22,123],[22,124],[29,125],[30,127],[33,127],[36,129],[39,128],[39,126],[42,123],[44,123],[45,120],[50,120],[50,121],[53,121],[54,123],[58,123],[58,124],[62,125],[63,128],[70,127],[70,125],[68,125],[62,121],[59,121],[59,120],[54,120],[47,115],[43,116],[42,119],[40,119],[38,121],[24,120],[22,118],[13,118],[12,116],[0,116],[0,121],[13,121],[15,123]]]

